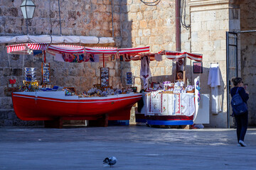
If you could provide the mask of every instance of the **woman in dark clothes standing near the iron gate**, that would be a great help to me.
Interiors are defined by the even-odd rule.
[[[233,81],[234,87],[230,91],[231,96],[233,97],[236,91],[238,90],[238,94],[241,96],[242,101],[244,101],[247,104],[247,101],[249,99],[249,92],[245,90],[244,84],[242,82],[242,78],[235,77],[232,79],[232,81]],[[248,125],[248,111],[242,115],[235,115],[233,113],[233,116],[235,116],[235,122],[237,124],[238,145],[241,145],[242,147],[246,147],[244,139],[245,139],[245,133]]]

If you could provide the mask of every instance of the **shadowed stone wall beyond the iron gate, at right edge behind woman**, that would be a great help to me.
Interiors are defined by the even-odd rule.
[[[256,4],[251,1],[242,1],[241,9],[241,30],[255,30],[254,33],[241,33],[241,77],[248,84],[250,99],[248,101],[249,108],[249,125],[256,125]]]

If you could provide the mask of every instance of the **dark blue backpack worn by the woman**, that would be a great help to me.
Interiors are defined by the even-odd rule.
[[[242,101],[240,94],[238,94],[238,90],[239,90],[239,87],[235,92],[235,95],[232,97],[231,106],[233,109],[233,113],[235,115],[242,115],[243,113],[248,111],[248,108],[246,103]]]

